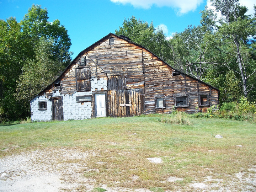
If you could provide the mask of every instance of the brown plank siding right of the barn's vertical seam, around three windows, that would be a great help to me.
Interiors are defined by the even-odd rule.
[[[208,85],[199,83],[187,75],[172,76],[173,69],[160,59],[143,49],[145,73],[145,111],[148,113],[170,113],[174,106],[174,96],[189,95],[189,107],[177,107],[176,110],[188,113],[205,107],[198,106],[198,95],[210,94],[210,104],[218,105],[218,91],[210,90]],[[156,97],[165,97],[165,108],[155,109]]]

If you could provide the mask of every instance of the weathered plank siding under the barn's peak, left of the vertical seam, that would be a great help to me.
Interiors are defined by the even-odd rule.
[[[126,75],[126,89],[144,88],[142,48],[116,37],[114,43],[109,45],[109,38],[106,38],[81,54],[81,57],[86,57],[86,66],[90,66],[91,77],[107,80],[110,75]],[[76,91],[75,68],[79,67],[79,59],[74,60],[60,78],[62,94]],[[52,91],[52,86],[49,86],[45,92],[52,95]]]

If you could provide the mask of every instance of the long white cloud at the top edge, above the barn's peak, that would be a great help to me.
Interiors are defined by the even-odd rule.
[[[203,0],[110,0],[117,4],[131,4],[136,8],[149,9],[151,6],[172,7],[177,9],[178,14],[186,14],[194,11],[203,2]]]

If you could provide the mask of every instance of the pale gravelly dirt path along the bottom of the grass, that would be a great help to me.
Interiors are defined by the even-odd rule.
[[[93,151],[77,149],[44,149],[0,159],[0,192],[62,192],[92,191],[95,181],[83,176],[86,162],[93,158]],[[172,178],[175,181],[175,178]],[[167,182],[172,182],[170,179]],[[230,178],[229,185],[208,176],[204,182],[192,182],[185,190],[178,191],[256,191],[256,167],[243,170]],[[108,188],[107,191],[150,192],[146,189]]]

